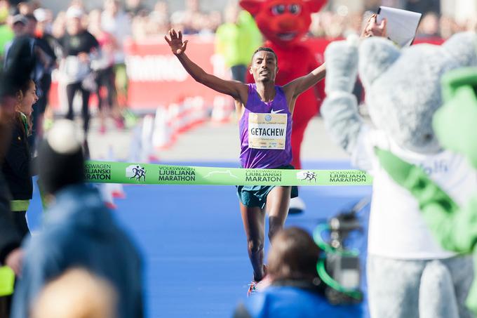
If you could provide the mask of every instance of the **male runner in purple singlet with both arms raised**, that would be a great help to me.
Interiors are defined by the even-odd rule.
[[[276,55],[271,48],[258,48],[252,58],[249,72],[255,84],[226,81],[206,73],[185,54],[187,40],[182,33],[170,29],[164,37],[182,66],[199,83],[230,95],[236,101],[240,118],[241,154],[243,168],[293,168],[291,130],[292,114],[297,97],[325,77],[325,65],[314,69],[285,86],[275,85],[278,72]],[[299,61],[297,61],[299,62]],[[243,227],[248,241],[248,256],[253,267],[253,281],[249,294],[266,274],[264,266],[265,210],[269,213],[268,237],[283,228],[288,214],[290,197],[297,196],[296,187],[238,186],[238,198]]]

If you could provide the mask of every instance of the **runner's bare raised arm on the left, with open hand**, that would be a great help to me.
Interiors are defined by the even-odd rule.
[[[246,100],[244,100],[244,98],[247,98],[248,94],[248,86],[246,86],[246,84],[243,84],[240,81],[226,81],[219,77],[215,77],[212,74],[208,74],[185,55],[188,40],[182,41],[182,32],[175,32],[175,29],[170,29],[169,37],[170,39],[168,39],[166,35],[164,36],[164,39],[166,39],[170,49],[173,51],[174,55],[177,56],[184,69],[196,81],[212,88],[214,91],[231,95],[234,99],[241,100],[244,104],[246,103]]]

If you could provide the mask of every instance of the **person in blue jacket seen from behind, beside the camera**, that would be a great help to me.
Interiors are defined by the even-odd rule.
[[[269,286],[238,305],[234,318],[363,317],[359,303],[336,305],[328,300],[328,285],[317,272],[324,254],[300,227],[278,231],[268,254]]]

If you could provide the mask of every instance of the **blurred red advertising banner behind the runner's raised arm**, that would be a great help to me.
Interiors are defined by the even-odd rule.
[[[213,37],[188,37],[187,55],[206,72],[228,78],[229,70],[220,55],[214,53]],[[306,43],[323,62],[328,39],[308,39]],[[442,39],[417,39],[415,43],[441,44]],[[165,41],[135,42],[126,44],[128,70],[128,105],[132,110],[151,112],[160,105],[182,102],[185,98],[201,98],[207,105],[223,103],[224,95],[197,83],[187,74],[179,60],[170,52]],[[57,108],[58,84],[53,83],[50,104]],[[94,102],[93,102],[94,104]]]

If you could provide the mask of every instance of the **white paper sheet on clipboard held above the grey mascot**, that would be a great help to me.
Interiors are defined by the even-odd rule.
[[[421,13],[380,6],[376,22],[387,20],[387,37],[398,46],[410,46],[416,36]]]

